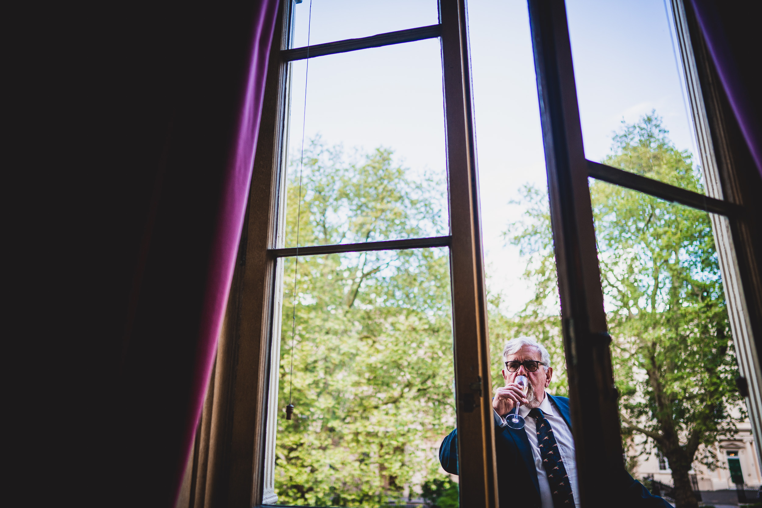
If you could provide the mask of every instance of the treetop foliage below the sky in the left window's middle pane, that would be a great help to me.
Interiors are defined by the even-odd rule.
[[[392,155],[378,148],[347,160],[340,145],[326,147],[319,137],[312,139],[303,171],[296,160],[289,172],[286,247],[296,247],[297,217],[299,245],[446,234],[443,183],[428,174],[413,178],[393,164]]]

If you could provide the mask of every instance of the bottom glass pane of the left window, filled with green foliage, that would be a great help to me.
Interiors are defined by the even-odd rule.
[[[296,310],[283,262],[278,503],[457,506],[448,249],[299,257]]]

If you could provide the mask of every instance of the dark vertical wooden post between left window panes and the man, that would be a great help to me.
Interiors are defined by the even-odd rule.
[[[452,235],[459,497],[461,506],[493,508],[498,506],[495,420],[490,398],[465,2],[440,0],[440,23]]]

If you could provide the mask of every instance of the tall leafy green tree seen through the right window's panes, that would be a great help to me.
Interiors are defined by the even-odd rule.
[[[690,153],[674,147],[655,113],[624,125],[604,163],[703,192]],[[745,417],[711,222],[623,187],[590,188],[626,445],[639,434],[640,453],[655,446],[667,457],[677,506],[693,508],[693,462],[716,468],[712,444]],[[511,238],[547,264],[552,254],[539,246],[549,226],[546,209],[536,210]],[[535,272],[538,297],[551,272]]]

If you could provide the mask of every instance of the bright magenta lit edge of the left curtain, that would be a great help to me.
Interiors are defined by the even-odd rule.
[[[243,85],[240,118],[235,139],[232,139],[229,162],[223,177],[222,196],[211,245],[207,290],[203,297],[191,388],[191,406],[183,432],[186,452],[178,460],[175,499],[181,487],[210,381],[217,338],[225,315],[251,184],[251,169],[254,164],[259,132],[267,62],[278,10],[278,0],[260,0],[258,3],[253,20],[251,59]]]

